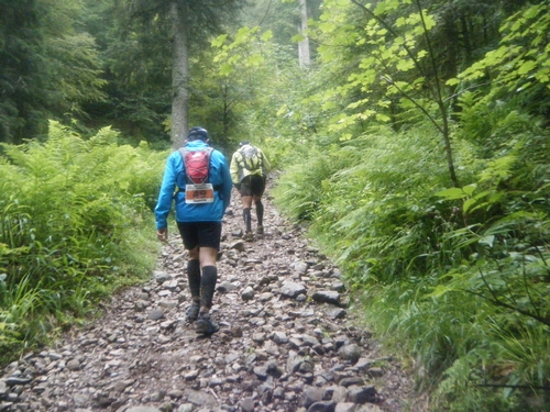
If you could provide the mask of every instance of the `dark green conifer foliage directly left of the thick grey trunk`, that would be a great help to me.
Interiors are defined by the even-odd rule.
[[[146,141],[160,147],[169,141],[170,22],[161,15],[150,24],[131,20],[127,5],[87,1],[82,19],[100,49],[107,96],[86,103],[91,119],[80,125],[112,125],[135,145]]]

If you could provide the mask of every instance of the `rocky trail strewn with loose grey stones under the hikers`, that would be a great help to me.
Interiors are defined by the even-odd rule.
[[[211,311],[218,333],[198,336],[186,321],[186,252],[170,236],[147,283],[2,371],[0,411],[411,411],[410,381],[354,322],[340,270],[268,193],[264,205],[266,233],[243,242],[233,192]]]

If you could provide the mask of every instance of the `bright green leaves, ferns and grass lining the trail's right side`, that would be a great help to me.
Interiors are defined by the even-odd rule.
[[[277,204],[308,222],[436,411],[550,410],[548,4],[538,3],[422,2],[420,13],[383,1],[361,14],[323,2],[310,33],[322,73],[278,111],[282,135],[308,149],[285,157]],[[442,33],[464,40],[463,56]],[[440,71],[447,58],[454,67]],[[461,185],[438,155],[446,121]]]

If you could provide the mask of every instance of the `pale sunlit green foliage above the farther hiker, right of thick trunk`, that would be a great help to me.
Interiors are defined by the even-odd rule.
[[[274,125],[276,113],[289,103],[289,89],[301,85],[304,76],[294,56],[260,27],[242,27],[234,36],[216,38],[212,45],[217,69],[209,77],[216,79],[217,91],[209,94],[217,96],[217,118],[224,122],[227,141],[246,138],[280,152],[284,133],[280,124]]]

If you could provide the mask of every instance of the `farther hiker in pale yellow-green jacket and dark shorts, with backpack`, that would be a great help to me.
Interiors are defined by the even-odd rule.
[[[254,201],[256,208],[256,233],[264,233],[264,205],[262,204],[262,196],[264,194],[265,180],[270,169],[270,160],[267,160],[262,149],[251,145],[249,141],[241,142],[239,144],[239,149],[233,153],[233,157],[231,158],[229,170],[233,185],[241,193],[245,241],[252,241],[254,238],[251,221],[252,201]]]

